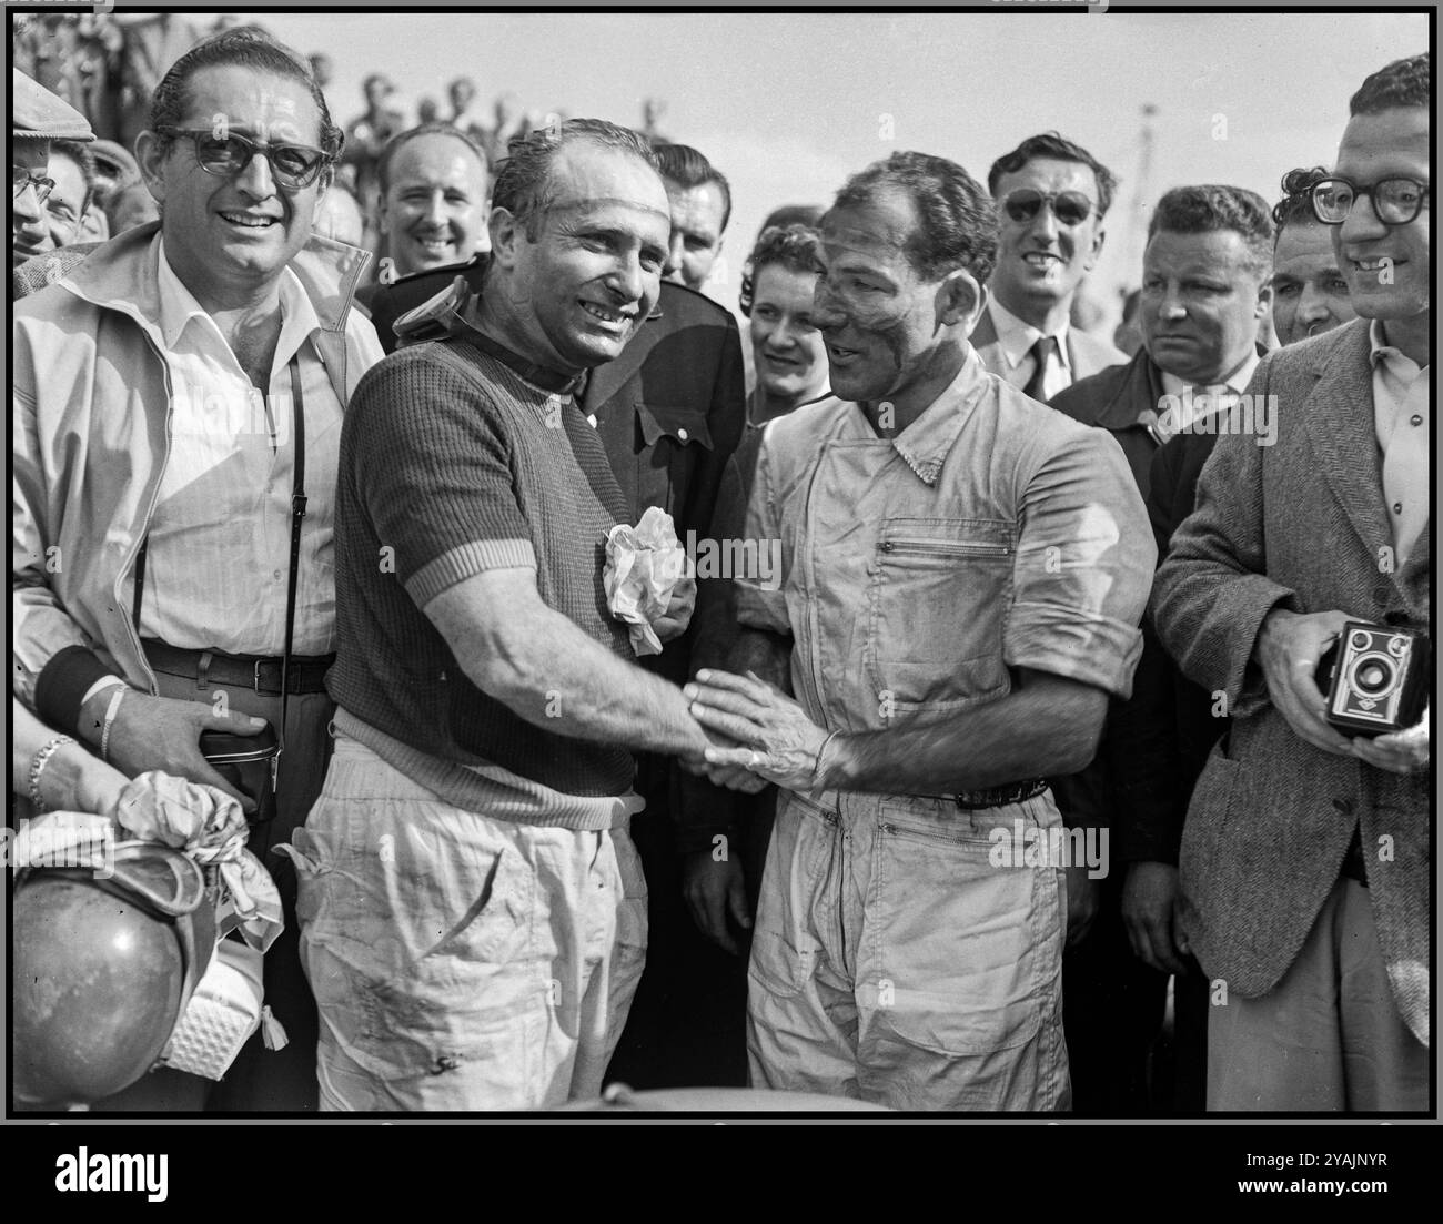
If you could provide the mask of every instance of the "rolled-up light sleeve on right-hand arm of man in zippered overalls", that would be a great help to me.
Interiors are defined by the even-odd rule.
[[[1079,427],[1019,475],[1009,667],[1131,693],[1157,546],[1117,442]]]

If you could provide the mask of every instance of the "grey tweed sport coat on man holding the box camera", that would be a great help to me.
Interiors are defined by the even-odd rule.
[[[1426,628],[1431,523],[1391,564],[1374,426],[1368,319],[1263,359],[1277,437],[1218,439],[1198,507],[1157,573],[1152,613],[1183,673],[1234,717],[1193,792],[1182,846],[1183,925],[1228,990],[1271,990],[1338,880],[1361,823],[1369,898],[1398,1012],[1429,1041],[1429,775],[1395,775],[1299,739],[1251,663],[1273,608]]]

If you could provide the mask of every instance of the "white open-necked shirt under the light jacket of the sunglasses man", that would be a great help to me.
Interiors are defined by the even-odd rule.
[[[160,329],[170,372],[170,459],[150,520],[140,632],[189,650],[278,655],[286,644],[296,355],[306,421],[293,651],[335,650],[332,528],[342,404],[312,344],[320,323],[296,274],[280,279],[281,331],[267,393],[215,320],[159,260]],[[380,359],[380,352],[377,352]]]

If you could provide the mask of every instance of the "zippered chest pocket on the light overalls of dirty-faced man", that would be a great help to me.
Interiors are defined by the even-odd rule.
[[[867,667],[879,700],[915,713],[1001,691],[1013,556],[1013,525],[1003,520],[883,521],[867,600]]]

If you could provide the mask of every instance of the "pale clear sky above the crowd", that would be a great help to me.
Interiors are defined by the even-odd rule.
[[[726,266],[709,293],[734,309],[765,215],[825,204],[893,149],[951,157],[978,180],[1023,137],[1056,128],[1121,180],[1088,289],[1111,316],[1141,261],[1134,232],[1140,111],[1157,107],[1141,215],[1167,188],[1227,182],[1270,202],[1293,166],[1330,165],[1348,98],[1369,72],[1427,48],[1424,14],[1390,13],[302,13],[254,19],[335,64],[333,117],[361,81],[391,76],[414,104],[470,76],[486,102],[515,91],[661,131],[732,182]],[[883,127],[885,115],[892,130]]]

